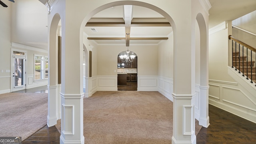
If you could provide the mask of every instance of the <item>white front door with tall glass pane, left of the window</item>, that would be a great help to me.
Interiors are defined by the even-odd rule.
[[[15,54],[16,53],[16,54]],[[26,89],[26,56],[24,52],[17,55],[15,51],[12,58],[12,92]]]

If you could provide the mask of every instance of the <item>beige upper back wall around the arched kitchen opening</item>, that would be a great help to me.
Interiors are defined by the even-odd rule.
[[[126,50],[126,46],[98,46],[97,74],[99,76],[117,75],[117,56]],[[158,46],[129,46],[129,50],[138,56],[138,75],[158,75]]]

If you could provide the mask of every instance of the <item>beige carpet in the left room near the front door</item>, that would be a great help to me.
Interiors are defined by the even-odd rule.
[[[22,141],[47,123],[48,94],[0,94],[0,136],[21,136]]]

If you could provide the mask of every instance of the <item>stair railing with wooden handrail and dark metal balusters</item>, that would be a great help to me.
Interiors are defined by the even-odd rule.
[[[253,59],[252,59],[252,57],[253,57],[252,54],[254,52],[255,60],[256,60],[256,48],[249,46],[248,44],[232,37],[231,35],[228,36],[228,39],[232,40],[232,68],[235,68],[235,70],[238,70],[238,73],[241,73],[241,71],[242,71],[242,73],[243,73],[242,76],[245,76],[244,74],[246,72],[247,80],[249,80],[249,78],[248,78],[248,71],[249,71],[250,72],[249,73],[250,82],[253,83],[253,80],[254,80],[254,82],[256,83],[256,67],[254,67],[255,61],[253,61]],[[237,46],[237,44],[238,44],[238,46]],[[242,48],[242,57],[241,57],[241,53],[240,53],[241,48]],[[246,49],[246,54],[244,54],[244,49]],[[248,51],[249,51],[250,61],[248,61]],[[242,58],[242,60],[241,60],[241,58]],[[245,58],[246,58],[246,60],[244,60]],[[244,64],[244,61],[246,61],[246,64]],[[242,64],[242,66],[240,64]],[[242,67],[242,70],[240,70],[241,67]],[[246,67],[246,68],[244,68],[244,67]],[[250,67],[250,68],[248,68],[248,67]],[[256,86],[256,84],[255,84],[255,86]]]

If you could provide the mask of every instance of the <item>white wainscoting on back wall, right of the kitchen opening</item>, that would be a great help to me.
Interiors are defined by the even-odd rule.
[[[158,91],[157,76],[138,76],[138,91]]]

